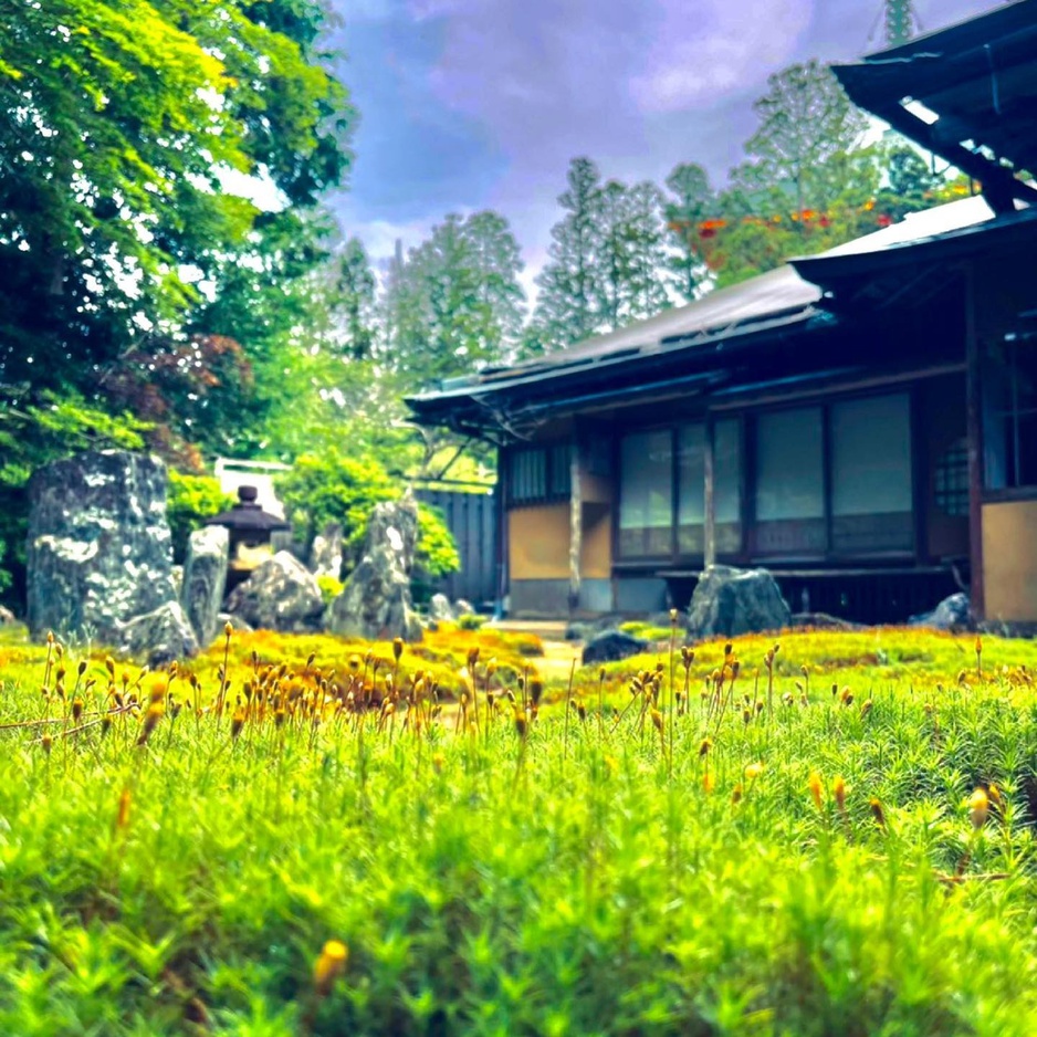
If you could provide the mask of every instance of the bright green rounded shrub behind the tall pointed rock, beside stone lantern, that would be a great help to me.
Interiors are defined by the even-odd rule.
[[[292,470],[276,480],[276,490],[285,514],[303,533],[307,546],[326,523],[342,524],[346,570],[359,558],[374,506],[400,496],[399,481],[376,460],[334,448],[297,458]],[[457,572],[459,566],[453,537],[442,517],[419,503],[416,579],[427,582]]]

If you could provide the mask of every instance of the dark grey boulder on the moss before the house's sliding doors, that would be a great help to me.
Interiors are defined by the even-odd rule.
[[[691,597],[688,632],[695,639],[739,637],[789,626],[792,615],[766,569],[711,565]]]

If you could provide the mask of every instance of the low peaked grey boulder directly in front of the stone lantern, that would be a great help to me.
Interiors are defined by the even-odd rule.
[[[253,630],[305,633],[321,629],[324,603],[317,578],[291,552],[260,563],[227,599],[231,621]]]

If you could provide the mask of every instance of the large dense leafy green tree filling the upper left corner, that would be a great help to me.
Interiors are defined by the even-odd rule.
[[[0,380],[75,385],[175,338],[256,207],[345,169],[348,107],[295,0],[54,0],[0,8]],[[208,328],[232,333],[232,328]]]

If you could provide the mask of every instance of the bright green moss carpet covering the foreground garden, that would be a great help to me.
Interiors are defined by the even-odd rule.
[[[535,641],[232,633],[171,683],[114,666],[164,701],[145,739],[98,722],[103,653],[78,685],[67,653],[59,696],[53,649],[46,674],[12,640],[0,1033],[1037,1031],[1033,642],[796,633],[769,667],[773,640],[709,643],[688,699],[663,650],[580,671],[574,705],[552,682],[523,739]],[[341,711],[371,672],[374,708]],[[419,672],[465,711],[427,725]],[[328,940],[348,962],[317,992]]]

